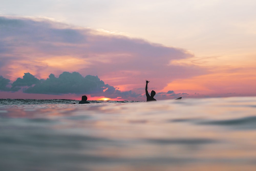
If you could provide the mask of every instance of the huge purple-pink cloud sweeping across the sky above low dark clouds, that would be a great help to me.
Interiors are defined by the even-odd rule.
[[[193,57],[188,51],[142,39],[46,19],[0,17],[0,25],[0,61],[5,61],[0,73],[10,80],[23,71],[46,78],[45,73],[59,75],[65,70],[98,75],[111,85],[132,84],[132,88],[140,88],[141,80],[152,78],[155,87],[162,89],[174,79],[207,72],[194,65],[171,63]]]

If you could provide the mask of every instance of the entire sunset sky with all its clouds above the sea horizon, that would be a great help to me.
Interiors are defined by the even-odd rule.
[[[256,1],[0,4],[0,98],[256,95]]]

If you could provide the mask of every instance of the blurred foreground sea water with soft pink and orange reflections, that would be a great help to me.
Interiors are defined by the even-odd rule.
[[[67,105],[0,109],[0,170],[256,170],[255,97]]]

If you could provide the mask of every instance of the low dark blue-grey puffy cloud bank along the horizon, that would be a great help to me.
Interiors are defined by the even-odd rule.
[[[143,98],[143,94],[137,94],[133,91],[120,91],[118,88],[105,84],[98,76],[87,75],[83,77],[78,72],[63,72],[58,78],[50,74],[47,79],[37,79],[32,74],[24,73],[23,78],[17,78],[10,83],[9,79],[0,76],[0,91],[19,91],[35,94],[88,94],[91,97],[104,96],[107,98],[134,99]],[[174,91],[160,92],[156,97],[177,97],[187,93],[175,94]]]

